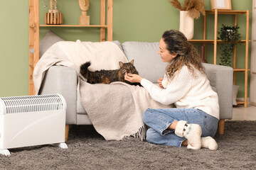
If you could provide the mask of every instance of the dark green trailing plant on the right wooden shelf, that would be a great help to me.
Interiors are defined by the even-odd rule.
[[[236,44],[241,42],[240,33],[238,33],[239,26],[222,26],[218,31],[218,40],[222,40],[224,43],[219,45],[221,51],[220,65],[231,66],[231,57],[234,52]]]

